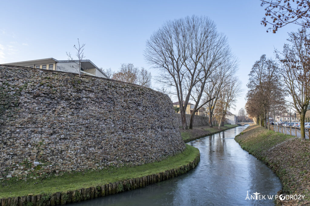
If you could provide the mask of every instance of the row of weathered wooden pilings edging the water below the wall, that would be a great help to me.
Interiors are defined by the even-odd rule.
[[[56,192],[54,194],[28,195],[22,197],[9,197],[0,199],[0,206],[53,206],[80,202],[96,197],[117,194],[123,191],[129,191],[149,184],[161,182],[167,179],[177,177],[193,169],[200,160],[200,154],[187,165],[166,170],[157,174],[151,174],[140,178],[126,179],[119,182],[106,183],[96,187],[82,188],[74,191]]]

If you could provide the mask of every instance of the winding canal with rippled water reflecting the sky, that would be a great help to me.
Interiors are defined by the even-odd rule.
[[[246,127],[189,142],[200,151],[200,162],[186,174],[132,191],[70,205],[274,205],[281,182],[263,162],[234,140]],[[253,193],[266,200],[246,200]]]

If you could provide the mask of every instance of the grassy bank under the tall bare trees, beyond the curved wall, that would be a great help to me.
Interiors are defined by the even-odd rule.
[[[234,124],[225,124],[224,127],[209,127],[209,126],[200,126],[200,127],[194,127],[193,129],[189,130],[183,130],[180,129],[181,137],[184,140],[184,142],[190,142],[195,139],[199,139],[201,137],[213,135],[234,127],[238,127],[239,125]]]

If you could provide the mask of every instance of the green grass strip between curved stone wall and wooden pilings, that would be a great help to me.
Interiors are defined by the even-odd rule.
[[[24,195],[51,194],[86,187],[95,187],[109,182],[117,182],[130,178],[139,178],[149,174],[164,172],[192,162],[199,150],[187,145],[183,152],[175,156],[167,157],[158,162],[139,166],[124,166],[120,168],[108,168],[103,170],[64,173],[61,176],[50,176],[45,179],[20,180],[14,183],[0,186],[0,198],[17,197]]]

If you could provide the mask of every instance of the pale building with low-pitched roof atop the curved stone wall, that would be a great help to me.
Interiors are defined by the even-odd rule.
[[[24,61],[24,62],[7,63],[7,65],[47,69],[47,70],[53,70],[53,71],[66,71],[66,72],[78,74],[78,71],[74,67],[76,65],[75,62],[78,62],[78,60],[58,61],[54,58],[47,58],[47,59],[38,59],[38,60],[31,60],[31,61]],[[109,79],[108,76],[104,74],[103,71],[101,71],[101,69],[99,69],[93,62],[91,62],[91,60],[81,61],[81,72],[82,74],[85,74],[85,75],[98,76],[98,77]]]

